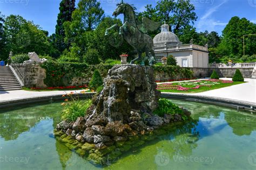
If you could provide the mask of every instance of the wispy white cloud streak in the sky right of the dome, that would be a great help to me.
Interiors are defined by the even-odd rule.
[[[219,20],[215,20],[214,17],[212,17],[214,12],[217,12],[221,5],[225,4],[228,0],[225,0],[221,2],[217,6],[213,6],[210,8],[205,14],[199,19],[197,24],[198,31],[215,31],[215,26],[225,26],[227,23],[222,23]]]

